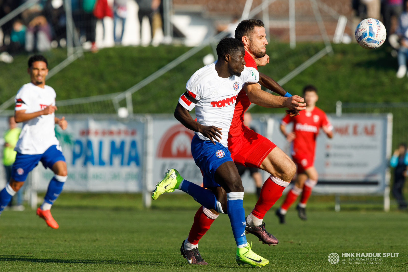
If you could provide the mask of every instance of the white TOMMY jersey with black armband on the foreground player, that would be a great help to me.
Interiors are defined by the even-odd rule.
[[[228,147],[228,132],[237,95],[246,82],[258,82],[259,73],[255,68],[244,67],[241,76],[222,78],[215,70],[215,63],[204,66],[191,76],[179,103],[188,111],[195,107],[195,116],[201,125],[220,127],[220,143]],[[195,134],[202,140],[210,140],[201,133]]]

